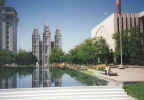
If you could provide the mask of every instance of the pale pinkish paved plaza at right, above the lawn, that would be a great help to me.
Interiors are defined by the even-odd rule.
[[[104,72],[90,70],[95,73],[95,76],[103,78],[110,81],[115,81],[117,83],[124,82],[144,82],[144,68],[126,68],[118,69],[112,68],[112,72],[117,73],[118,76],[107,76],[104,75]]]

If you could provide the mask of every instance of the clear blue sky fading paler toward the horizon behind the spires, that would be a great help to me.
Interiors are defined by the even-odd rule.
[[[122,12],[141,12],[144,0],[122,0]],[[116,0],[6,0],[18,12],[18,49],[31,51],[35,25],[43,33],[48,23],[54,39],[58,26],[65,52],[91,37],[91,30],[117,11]]]

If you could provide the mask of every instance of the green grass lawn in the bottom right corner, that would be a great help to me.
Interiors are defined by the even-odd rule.
[[[124,89],[128,95],[137,98],[138,100],[144,100],[144,82],[141,83],[126,83]]]

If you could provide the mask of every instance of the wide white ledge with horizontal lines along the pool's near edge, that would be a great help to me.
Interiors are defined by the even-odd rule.
[[[133,100],[120,87],[82,86],[0,90],[0,100]]]

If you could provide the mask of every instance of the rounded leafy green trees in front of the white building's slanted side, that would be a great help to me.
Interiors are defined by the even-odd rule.
[[[73,64],[107,63],[110,51],[103,38],[86,39],[83,43],[71,49],[66,58]]]

